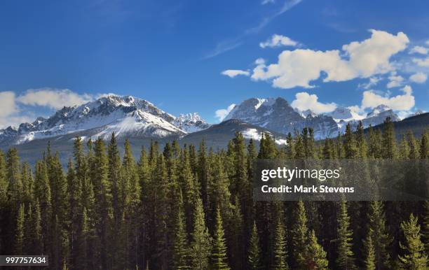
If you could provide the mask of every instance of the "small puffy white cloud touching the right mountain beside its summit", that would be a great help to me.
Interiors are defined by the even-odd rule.
[[[295,100],[292,101],[290,105],[300,111],[311,110],[315,113],[329,113],[336,108],[336,104],[319,102],[318,96],[315,94],[308,94],[307,92],[295,94]]]

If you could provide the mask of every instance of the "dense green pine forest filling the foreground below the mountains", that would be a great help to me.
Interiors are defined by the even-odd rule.
[[[253,201],[257,159],[428,159],[429,132],[395,139],[393,123],[313,130],[279,147],[242,134],[135,160],[115,134],[74,140],[63,169],[50,145],[34,168],[0,152],[0,254],[48,255],[50,269],[428,269],[428,201]]]

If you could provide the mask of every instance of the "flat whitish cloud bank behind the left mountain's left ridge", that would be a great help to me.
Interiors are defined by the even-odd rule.
[[[30,89],[17,98],[22,104],[31,106],[46,106],[59,109],[64,106],[74,106],[92,101],[89,94],[78,94],[68,89]]]

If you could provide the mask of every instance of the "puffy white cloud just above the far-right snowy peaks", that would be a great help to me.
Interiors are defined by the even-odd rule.
[[[408,111],[414,107],[415,100],[412,95],[412,89],[409,85],[402,88],[404,94],[399,94],[395,97],[381,96],[374,91],[365,91],[363,93],[362,108],[375,108],[384,104],[395,111]]]

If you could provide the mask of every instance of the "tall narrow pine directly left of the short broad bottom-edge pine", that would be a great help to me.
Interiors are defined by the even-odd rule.
[[[299,200],[295,210],[295,221],[292,227],[292,244],[294,250],[294,269],[306,269],[307,218],[304,202]]]

